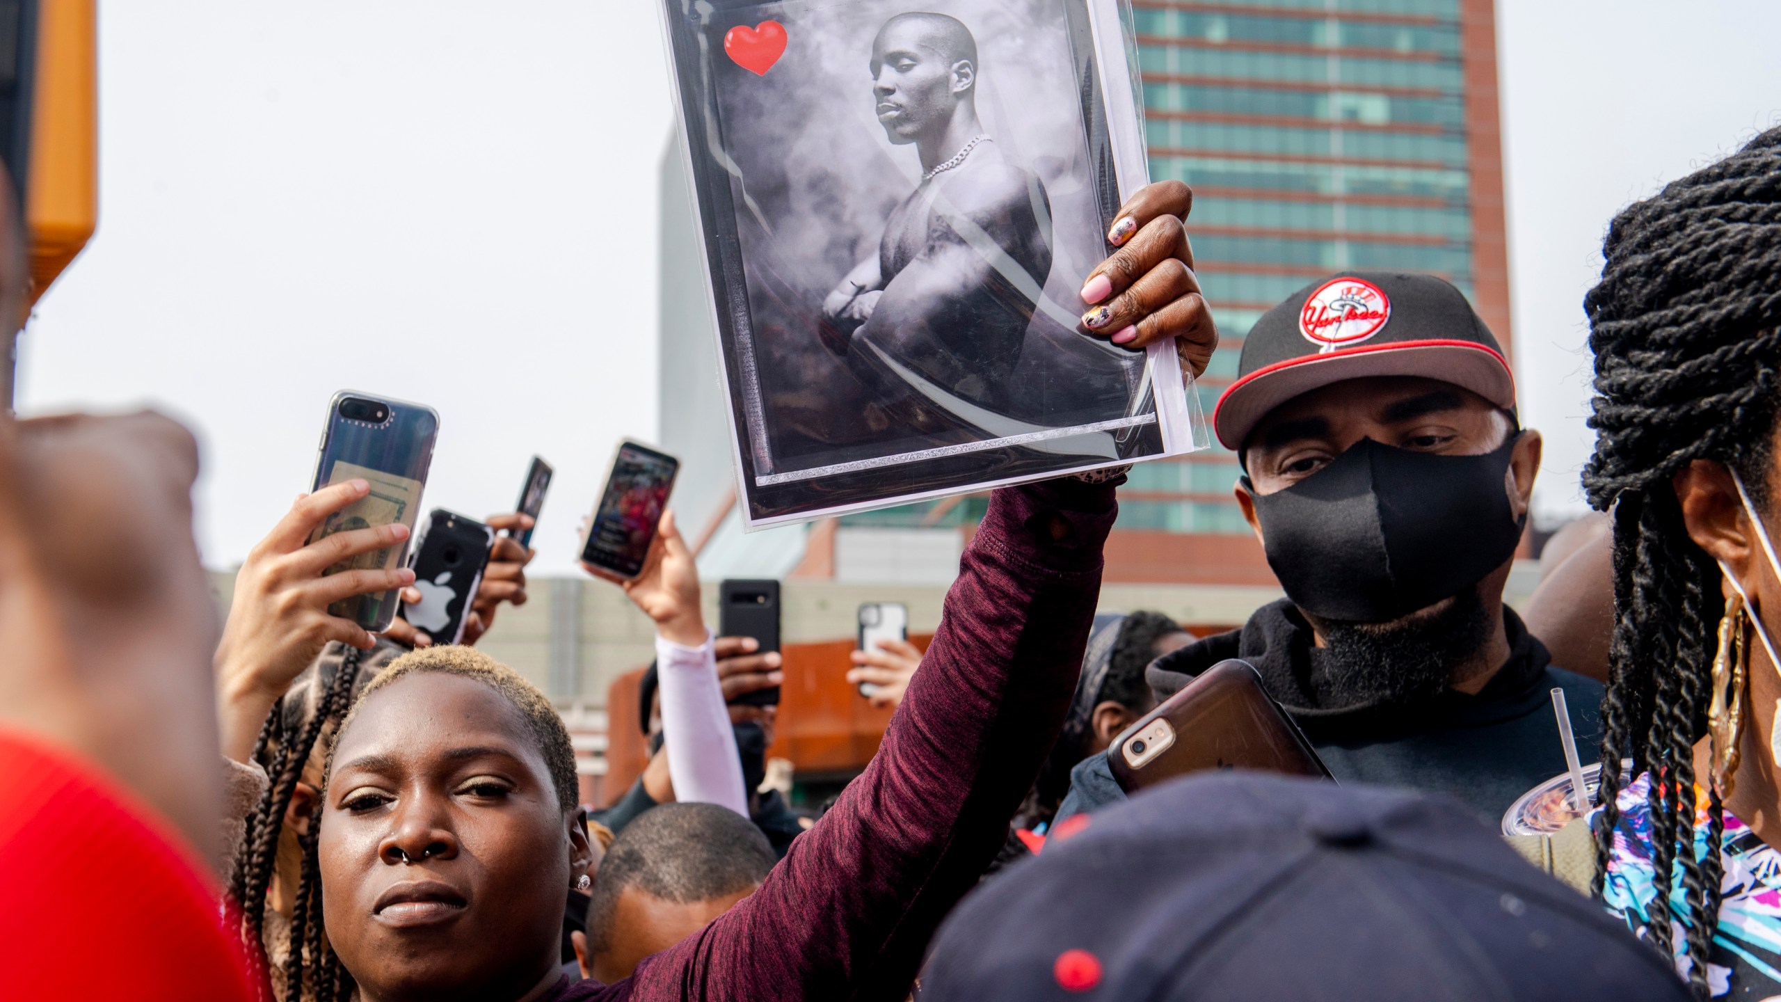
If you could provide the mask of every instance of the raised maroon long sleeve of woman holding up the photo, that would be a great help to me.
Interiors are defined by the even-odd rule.
[[[866,772],[700,934],[545,1002],[907,998],[1063,726],[1113,513],[1111,483],[997,490]]]

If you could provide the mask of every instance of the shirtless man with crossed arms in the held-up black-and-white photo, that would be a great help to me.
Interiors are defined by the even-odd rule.
[[[978,119],[965,25],[898,14],[873,41],[871,70],[878,121],[890,143],[915,146],[923,180],[890,212],[878,253],[823,301],[819,332],[874,387],[914,389],[976,424],[972,405],[1001,410],[1012,390],[1051,271],[1051,205]]]

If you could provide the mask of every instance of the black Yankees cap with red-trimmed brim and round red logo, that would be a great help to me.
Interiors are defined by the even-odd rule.
[[[1341,271],[1261,314],[1213,428],[1227,449],[1241,449],[1275,407],[1361,376],[1427,376],[1516,407],[1503,348],[1453,283],[1412,271]]]

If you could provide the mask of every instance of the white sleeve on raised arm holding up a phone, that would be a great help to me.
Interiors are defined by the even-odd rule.
[[[655,676],[663,701],[663,740],[675,801],[720,804],[748,817],[743,760],[718,685],[711,635],[702,647],[655,637]]]

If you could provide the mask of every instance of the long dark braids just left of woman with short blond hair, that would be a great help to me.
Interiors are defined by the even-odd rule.
[[[255,760],[265,767],[269,784],[260,804],[248,815],[246,831],[235,856],[230,893],[242,911],[240,938],[253,952],[271,956],[265,943],[265,897],[278,870],[278,842],[285,829],[285,813],[296,795],[303,770],[310,763],[324,729],[337,727],[353,701],[363,653],[347,649],[331,674],[326,660],[315,663],[308,683],[292,686],[267,713],[260,736],[255,740]],[[317,827],[319,813],[310,820]],[[301,840],[299,840],[301,843]],[[290,925],[290,956],[283,970],[285,998],[303,998],[303,940],[297,915],[321,925],[321,891],[310,893],[308,883],[299,883]],[[292,963],[296,961],[296,963]],[[260,986],[265,988],[264,984]],[[262,998],[262,1002],[271,1002]]]

